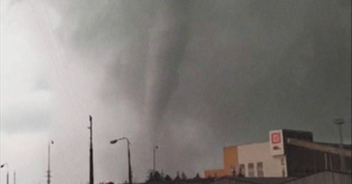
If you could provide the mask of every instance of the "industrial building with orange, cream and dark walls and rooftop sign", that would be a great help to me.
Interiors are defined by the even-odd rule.
[[[339,144],[313,142],[312,132],[282,129],[270,131],[269,142],[224,147],[223,159],[223,169],[206,170],[204,176],[302,177],[326,170],[351,172],[351,145],[339,149]]]

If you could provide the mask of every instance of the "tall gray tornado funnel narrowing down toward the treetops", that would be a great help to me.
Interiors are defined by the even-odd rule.
[[[146,64],[145,121],[156,142],[158,127],[177,88],[178,67],[187,44],[189,1],[164,2],[149,30]]]

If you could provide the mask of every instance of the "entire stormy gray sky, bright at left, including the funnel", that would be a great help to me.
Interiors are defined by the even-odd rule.
[[[351,144],[351,1],[1,0],[1,163],[18,183],[124,182],[126,143],[189,177],[222,167],[222,147],[268,131]],[[1,182],[6,172],[1,170]]]

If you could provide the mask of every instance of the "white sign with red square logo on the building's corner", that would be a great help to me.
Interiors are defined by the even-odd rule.
[[[271,156],[284,155],[284,144],[282,130],[269,132]]]

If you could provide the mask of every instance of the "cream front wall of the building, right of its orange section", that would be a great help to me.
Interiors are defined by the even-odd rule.
[[[272,157],[270,143],[254,143],[237,146],[238,164],[245,164],[245,176],[249,177],[248,164],[254,164],[254,177],[257,177],[257,163],[263,162],[264,177],[287,176],[285,156]],[[282,160],[283,159],[283,160]]]

